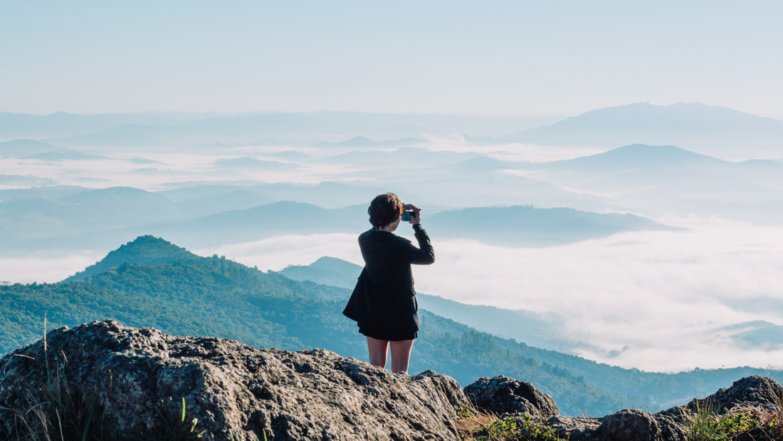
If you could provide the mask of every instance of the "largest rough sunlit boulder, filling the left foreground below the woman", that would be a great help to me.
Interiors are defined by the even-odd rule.
[[[198,418],[206,439],[236,441],[458,439],[455,407],[467,405],[453,378],[393,375],[323,349],[254,349],[113,320],[57,329],[46,344],[0,360],[0,439],[18,422],[8,409],[43,402],[53,371],[89,396],[117,438],[159,428],[155,407],[169,397],[185,399],[186,421]]]

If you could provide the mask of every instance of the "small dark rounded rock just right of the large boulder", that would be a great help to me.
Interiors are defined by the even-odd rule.
[[[531,383],[503,375],[482,377],[464,389],[471,403],[493,414],[526,413],[534,416],[557,415],[557,405],[551,396],[540,392]]]

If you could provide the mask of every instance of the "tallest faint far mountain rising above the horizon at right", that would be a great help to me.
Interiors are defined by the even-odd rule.
[[[475,143],[544,146],[675,145],[728,158],[783,157],[783,121],[702,103],[633,103]]]

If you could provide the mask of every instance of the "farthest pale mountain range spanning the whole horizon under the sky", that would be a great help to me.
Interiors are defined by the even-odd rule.
[[[541,146],[674,145],[731,158],[783,157],[783,121],[702,103],[632,103],[575,117],[366,114],[319,111],[256,114],[0,113],[5,141],[69,147],[213,147],[276,143],[323,148],[413,146],[422,135],[463,133],[468,143]],[[373,140],[375,139],[375,140]],[[380,139],[380,140],[379,140]],[[51,151],[51,150],[49,150]],[[42,151],[35,153],[45,153]]]

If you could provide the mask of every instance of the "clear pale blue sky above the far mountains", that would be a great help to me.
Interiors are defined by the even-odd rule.
[[[783,2],[0,2],[0,111],[783,119]]]

